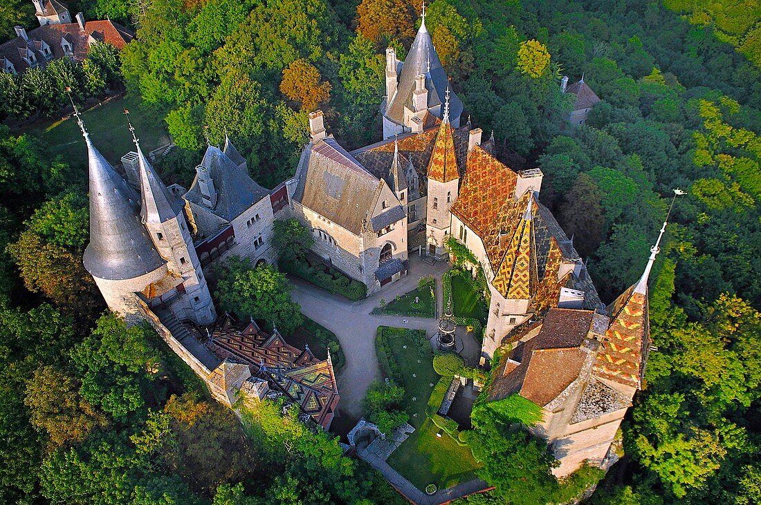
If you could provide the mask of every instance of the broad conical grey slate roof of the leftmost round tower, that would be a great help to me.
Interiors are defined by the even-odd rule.
[[[90,243],[84,268],[100,279],[122,280],[145,275],[164,265],[143,226],[138,195],[95,149],[90,136]]]

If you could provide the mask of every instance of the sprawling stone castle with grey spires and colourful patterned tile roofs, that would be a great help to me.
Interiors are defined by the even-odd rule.
[[[151,321],[221,401],[233,403],[232,390],[288,395],[282,382],[308,376],[296,389],[309,393],[289,398],[327,427],[338,400],[332,365],[297,357],[276,330],[266,336],[253,323],[237,333],[218,327],[209,346],[183,333],[177,320],[208,327],[216,319],[204,268],[230,254],[274,263],[272,224],[295,217],[314,234],[315,254],[374,293],[409,273],[409,254],[445,259],[454,237],[472,251],[476,262],[466,267],[482,272],[489,289],[482,357],[499,356],[489,399],[517,394],[541,407],[543,421],[531,429],[560,460],[556,475],[584,461],[605,466],[642,387],[658,245],[642,279],[605,307],[572,240],[538,199],[542,172],[510,169],[495,156],[493,137],[483,140],[470,120],[460,127],[462,103],[425,17],[404,62],[393,49],[386,55],[384,140],[350,153],[313,112],[295,176],[272,191],[249,177],[229,139],[208,147],[186,190],[164,186],[135,137],[125,181],[82,126],[91,194],[85,267],[113,311]],[[568,92],[589,98],[586,89]],[[267,365],[266,349],[283,357]]]

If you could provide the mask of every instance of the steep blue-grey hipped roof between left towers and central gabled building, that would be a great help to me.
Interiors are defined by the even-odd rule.
[[[209,212],[225,221],[231,222],[251,205],[263,197],[269,196],[268,190],[256,184],[243,169],[237,166],[218,147],[209,146],[201,164],[209,169],[217,192],[217,202],[213,209],[209,209],[204,204],[198,184],[198,175],[193,179],[193,185],[190,186],[184,198],[198,207],[208,209]]]

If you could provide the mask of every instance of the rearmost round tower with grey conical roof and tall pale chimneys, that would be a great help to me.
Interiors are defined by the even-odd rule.
[[[386,98],[380,106],[384,138],[422,131],[429,113],[444,117],[444,90],[449,78],[425,27],[425,5],[420,28],[404,62],[396,59],[393,48],[386,50],[385,77]],[[454,128],[460,126],[462,112],[463,103],[452,93],[449,116]]]

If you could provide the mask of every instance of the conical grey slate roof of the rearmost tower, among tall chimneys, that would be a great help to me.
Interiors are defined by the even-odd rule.
[[[431,70],[428,71],[428,65]],[[436,49],[431,41],[431,35],[421,24],[412,46],[409,48],[407,58],[404,60],[399,73],[399,83],[396,85],[396,94],[387,98],[388,105],[384,114],[397,124],[404,122],[404,107],[412,109],[412,91],[415,90],[415,78],[419,74],[425,74],[425,89],[428,90],[428,109],[444,104],[444,92],[447,89],[449,79],[441,61],[438,59]],[[443,109],[443,107],[441,107]],[[463,103],[456,94],[449,96],[449,116],[458,118],[463,112]],[[443,112],[439,112],[441,117]]]

